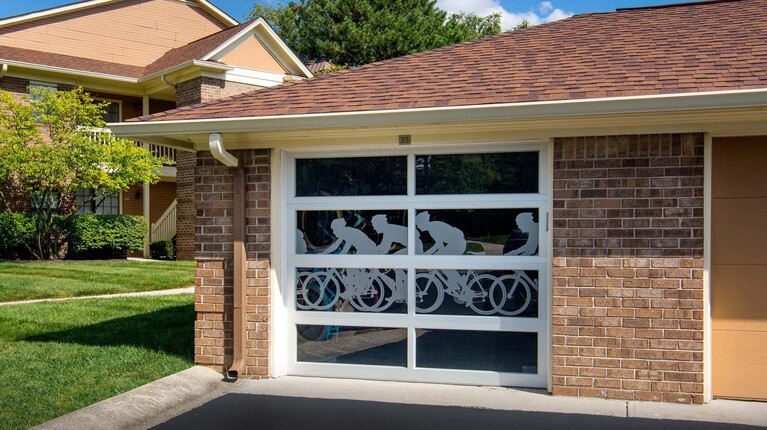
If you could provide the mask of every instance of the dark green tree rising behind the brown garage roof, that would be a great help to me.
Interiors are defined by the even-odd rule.
[[[358,66],[501,32],[499,14],[448,15],[436,0],[298,0],[256,4],[263,17],[304,60]]]

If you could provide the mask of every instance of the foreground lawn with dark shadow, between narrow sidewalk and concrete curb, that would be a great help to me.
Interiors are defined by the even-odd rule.
[[[25,429],[193,365],[191,294],[0,307],[0,428]]]

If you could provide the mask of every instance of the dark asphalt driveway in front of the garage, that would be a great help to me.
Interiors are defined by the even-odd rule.
[[[503,411],[342,399],[226,394],[154,427],[158,430],[690,429],[760,427],[585,414]]]

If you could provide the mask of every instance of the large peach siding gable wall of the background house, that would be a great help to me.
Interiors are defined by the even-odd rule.
[[[0,45],[145,66],[168,50],[226,28],[174,0],[127,0],[0,28]]]

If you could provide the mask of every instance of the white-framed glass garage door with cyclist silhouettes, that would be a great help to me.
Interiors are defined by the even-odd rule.
[[[545,145],[290,153],[288,371],[545,387]]]

